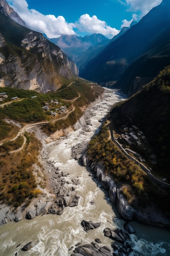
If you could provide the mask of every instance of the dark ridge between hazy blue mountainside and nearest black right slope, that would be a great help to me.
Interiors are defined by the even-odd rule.
[[[121,79],[114,84],[115,88],[121,88],[131,96],[156,77],[165,66],[170,65],[170,27],[157,40],[165,43],[154,47],[157,44],[155,41],[153,49],[129,65]]]

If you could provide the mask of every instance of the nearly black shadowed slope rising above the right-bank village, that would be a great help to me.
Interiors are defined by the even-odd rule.
[[[124,103],[113,108],[115,125],[134,124],[146,135],[157,157],[155,169],[170,180],[170,66]]]

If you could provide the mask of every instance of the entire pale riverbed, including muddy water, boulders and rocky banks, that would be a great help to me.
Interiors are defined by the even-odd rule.
[[[109,94],[106,100],[108,97]],[[113,101],[119,99],[115,97]],[[103,117],[110,107],[109,104],[105,104],[106,102],[103,101],[95,107],[96,110],[86,111],[77,122],[75,132],[50,144],[46,144],[48,138],[41,132],[40,127],[32,130],[42,141],[40,159],[44,166],[42,178],[46,178],[46,187],[42,189],[42,195],[35,198],[29,207],[22,206],[18,212],[9,208],[4,211],[2,223],[18,221],[25,217],[29,220],[10,222],[0,227],[2,256],[25,255],[24,250],[28,248],[26,254],[29,256],[155,256],[157,255],[155,249],[158,255],[166,252],[168,242],[164,230],[160,233],[164,234],[161,235],[164,244],[159,243],[158,239],[155,240],[156,232],[152,232],[150,228],[144,231],[142,226],[141,233],[146,236],[139,234],[139,227],[136,229],[137,223],[135,229],[139,237],[131,234],[131,231],[124,227],[126,222],[111,203],[110,198],[116,198],[115,195],[119,193],[114,188],[114,184],[104,177],[102,167],[92,164],[91,168],[86,169],[82,165],[82,163],[87,165],[89,162],[84,155],[86,145],[94,133],[99,131]],[[107,106],[106,110],[105,106]],[[82,154],[84,157],[81,157]],[[81,160],[77,162],[74,159]],[[123,205],[122,209],[128,210],[128,206],[123,201],[119,207]],[[127,212],[133,213],[133,210]],[[130,220],[131,217],[126,216],[126,219]],[[86,222],[82,222],[83,220]],[[87,224],[82,226],[81,223]],[[85,231],[84,227],[88,230]],[[91,229],[91,227],[96,228]],[[141,240],[140,237],[145,239],[153,237],[156,244]]]

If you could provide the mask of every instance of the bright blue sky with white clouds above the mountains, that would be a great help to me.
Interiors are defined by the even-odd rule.
[[[162,0],[7,0],[33,30],[49,38],[101,33],[113,38]]]

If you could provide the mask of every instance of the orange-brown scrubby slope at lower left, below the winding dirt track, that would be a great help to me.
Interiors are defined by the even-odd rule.
[[[37,195],[32,165],[38,162],[37,155],[41,145],[33,135],[27,136],[29,136],[30,143],[26,144],[22,154],[18,152],[1,155],[0,200],[15,207]],[[16,140],[18,143],[23,142],[21,138]]]

